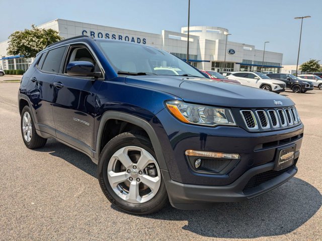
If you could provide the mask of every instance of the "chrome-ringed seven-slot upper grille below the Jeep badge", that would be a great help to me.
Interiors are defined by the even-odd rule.
[[[256,113],[256,116],[255,114]],[[276,130],[290,128],[299,123],[298,113],[295,107],[286,107],[279,109],[257,109],[240,110],[246,127],[249,130]],[[257,125],[257,123],[259,123]]]

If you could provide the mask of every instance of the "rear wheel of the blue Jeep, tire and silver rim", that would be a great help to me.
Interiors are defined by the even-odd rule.
[[[26,105],[21,112],[20,127],[22,139],[29,149],[43,147],[47,142],[47,139],[38,136],[36,129],[33,127],[33,123],[31,109]]]

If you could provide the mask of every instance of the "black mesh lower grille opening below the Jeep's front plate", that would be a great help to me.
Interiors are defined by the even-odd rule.
[[[255,175],[254,177],[252,177],[248,183],[246,184],[243,192],[245,191],[249,191],[250,189],[254,188],[254,187],[257,187],[267,181],[270,181],[272,180],[273,178],[275,177],[278,177],[279,175],[287,172],[288,170],[292,169],[293,166],[289,166],[287,168],[284,168],[280,171],[274,171],[274,170],[270,170],[270,171],[267,171],[267,172],[262,172],[260,174],[257,174]]]

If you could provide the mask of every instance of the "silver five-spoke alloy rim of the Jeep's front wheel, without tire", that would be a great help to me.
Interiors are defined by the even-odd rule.
[[[107,174],[113,191],[130,203],[151,200],[161,183],[161,172],[154,157],[135,146],[116,151],[109,161]]]

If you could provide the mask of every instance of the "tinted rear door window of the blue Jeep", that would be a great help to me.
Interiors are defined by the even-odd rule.
[[[50,50],[41,67],[41,70],[52,73],[59,73],[61,60],[65,53],[66,46]]]

